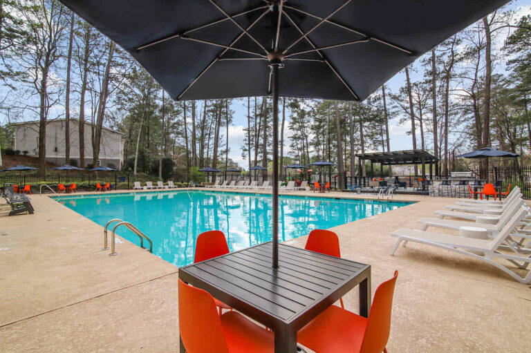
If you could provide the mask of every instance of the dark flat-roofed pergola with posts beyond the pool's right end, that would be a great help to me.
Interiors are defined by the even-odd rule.
[[[356,157],[360,163],[360,171],[362,170],[362,161],[371,161],[371,178],[374,177],[374,164],[380,163],[380,174],[384,176],[384,165],[406,165],[406,164],[422,164],[422,180],[426,179],[426,164],[429,164],[429,178],[434,177],[433,164],[435,164],[435,175],[438,176],[439,160],[436,156],[423,149],[412,149],[407,151],[393,151],[393,152],[373,152],[357,154]],[[425,186],[422,183],[422,189]]]

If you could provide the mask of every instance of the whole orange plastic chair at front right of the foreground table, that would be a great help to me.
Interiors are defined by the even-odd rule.
[[[315,352],[387,352],[398,271],[376,289],[369,318],[332,305],[299,330],[297,341]]]

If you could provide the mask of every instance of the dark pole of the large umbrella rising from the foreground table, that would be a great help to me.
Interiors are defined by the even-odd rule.
[[[272,267],[279,267],[279,66],[274,59],[272,68],[272,95],[273,95],[273,252]]]

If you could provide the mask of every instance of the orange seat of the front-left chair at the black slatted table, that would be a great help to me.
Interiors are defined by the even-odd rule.
[[[237,312],[221,315],[223,334],[230,353],[272,353],[274,334]]]

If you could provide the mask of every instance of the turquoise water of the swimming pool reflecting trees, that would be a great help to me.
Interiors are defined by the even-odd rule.
[[[223,231],[231,251],[271,240],[271,195],[169,191],[62,196],[57,202],[102,226],[112,218],[133,223],[153,240],[153,254],[179,267],[193,263],[195,240],[203,231]],[[279,238],[290,240],[407,204],[281,195]],[[140,244],[124,227],[116,233]]]

